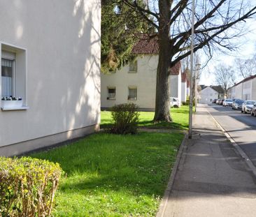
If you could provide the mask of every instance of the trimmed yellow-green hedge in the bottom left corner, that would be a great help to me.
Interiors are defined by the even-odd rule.
[[[50,216],[61,173],[47,160],[0,157],[0,216]]]

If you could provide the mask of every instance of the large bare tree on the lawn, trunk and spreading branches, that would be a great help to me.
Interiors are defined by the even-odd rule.
[[[112,0],[126,3],[141,19],[155,27],[159,43],[154,121],[171,121],[169,75],[171,67],[190,55],[192,0],[152,0],[148,6],[138,0]],[[253,17],[256,6],[250,0],[195,0],[194,52],[204,48],[234,50],[232,39],[243,33],[242,21]],[[232,30],[230,30],[232,28]]]

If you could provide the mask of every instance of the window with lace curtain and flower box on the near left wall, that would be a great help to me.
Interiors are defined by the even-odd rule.
[[[27,51],[0,43],[1,47],[1,108],[25,110],[27,107]],[[10,97],[11,96],[11,97]]]

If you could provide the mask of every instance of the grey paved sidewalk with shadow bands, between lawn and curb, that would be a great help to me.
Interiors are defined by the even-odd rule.
[[[158,216],[256,216],[256,178],[199,105],[168,200]]]

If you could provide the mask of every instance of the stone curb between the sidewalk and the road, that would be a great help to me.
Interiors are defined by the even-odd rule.
[[[207,112],[208,112],[208,110],[207,110]],[[250,170],[252,170],[253,175],[256,177],[256,167],[255,167],[255,165],[253,165],[253,162],[250,160],[250,158],[247,156],[247,154],[241,149],[241,147],[239,147],[239,144],[236,143],[236,141],[232,138],[232,136],[229,135],[229,133],[227,133],[227,131],[224,128],[222,128],[220,123],[211,115],[211,113],[208,112],[208,114],[212,117],[213,121],[215,121],[215,124],[217,124],[218,128],[220,128],[220,130],[222,130],[222,133],[224,133],[224,135],[227,137],[227,139],[232,143],[232,146],[236,149],[236,151],[243,158],[243,160],[245,160],[245,162],[248,165],[248,167],[250,168]]]

